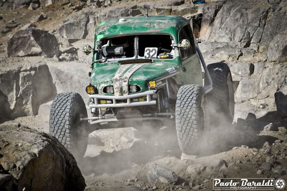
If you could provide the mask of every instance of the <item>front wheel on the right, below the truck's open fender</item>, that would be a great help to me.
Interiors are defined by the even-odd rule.
[[[209,132],[207,99],[200,85],[180,87],[176,99],[176,133],[184,154],[199,153]]]

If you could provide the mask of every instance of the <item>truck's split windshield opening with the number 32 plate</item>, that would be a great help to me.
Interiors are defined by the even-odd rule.
[[[142,34],[101,40],[97,59],[112,62],[128,59],[171,59],[173,37],[168,34]],[[106,59],[104,59],[106,58]]]

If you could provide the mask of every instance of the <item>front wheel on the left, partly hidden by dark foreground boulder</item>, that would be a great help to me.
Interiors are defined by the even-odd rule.
[[[85,103],[78,93],[57,94],[50,112],[50,133],[55,136],[74,157],[83,157],[88,145],[89,135],[85,128],[88,121]]]

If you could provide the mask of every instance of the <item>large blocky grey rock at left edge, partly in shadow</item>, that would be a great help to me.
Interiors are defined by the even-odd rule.
[[[7,117],[37,115],[38,105],[52,99],[56,92],[47,65],[7,67],[0,73],[0,83],[0,113]]]

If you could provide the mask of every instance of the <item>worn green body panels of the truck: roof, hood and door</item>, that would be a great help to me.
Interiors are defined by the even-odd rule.
[[[96,41],[101,38],[122,36],[125,34],[170,34],[173,36],[174,42],[178,43],[180,29],[188,24],[187,20],[181,16],[139,16],[126,17],[125,19],[125,22],[119,22],[119,19],[113,19],[101,23],[96,29],[95,47],[97,47]],[[195,46],[198,47],[197,42],[195,41],[194,43]],[[96,60],[96,54],[93,56],[93,61],[94,60]],[[123,65],[120,65],[119,62],[93,64],[90,83],[99,90],[99,94],[114,95],[105,94],[103,89],[106,86],[114,85],[114,78],[121,66]],[[121,76],[128,73],[129,69],[133,66],[135,66],[135,64],[128,64]],[[173,78],[178,85],[203,85],[202,69],[198,55],[194,54],[182,62],[179,49],[175,48],[173,59],[155,59],[152,63],[141,64],[140,67],[129,76],[128,84],[136,84],[140,87],[140,92],[144,92],[149,90],[147,85],[149,80],[160,82],[164,78]],[[119,88],[121,89],[120,95],[124,95],[123,88],[124,87]]]

